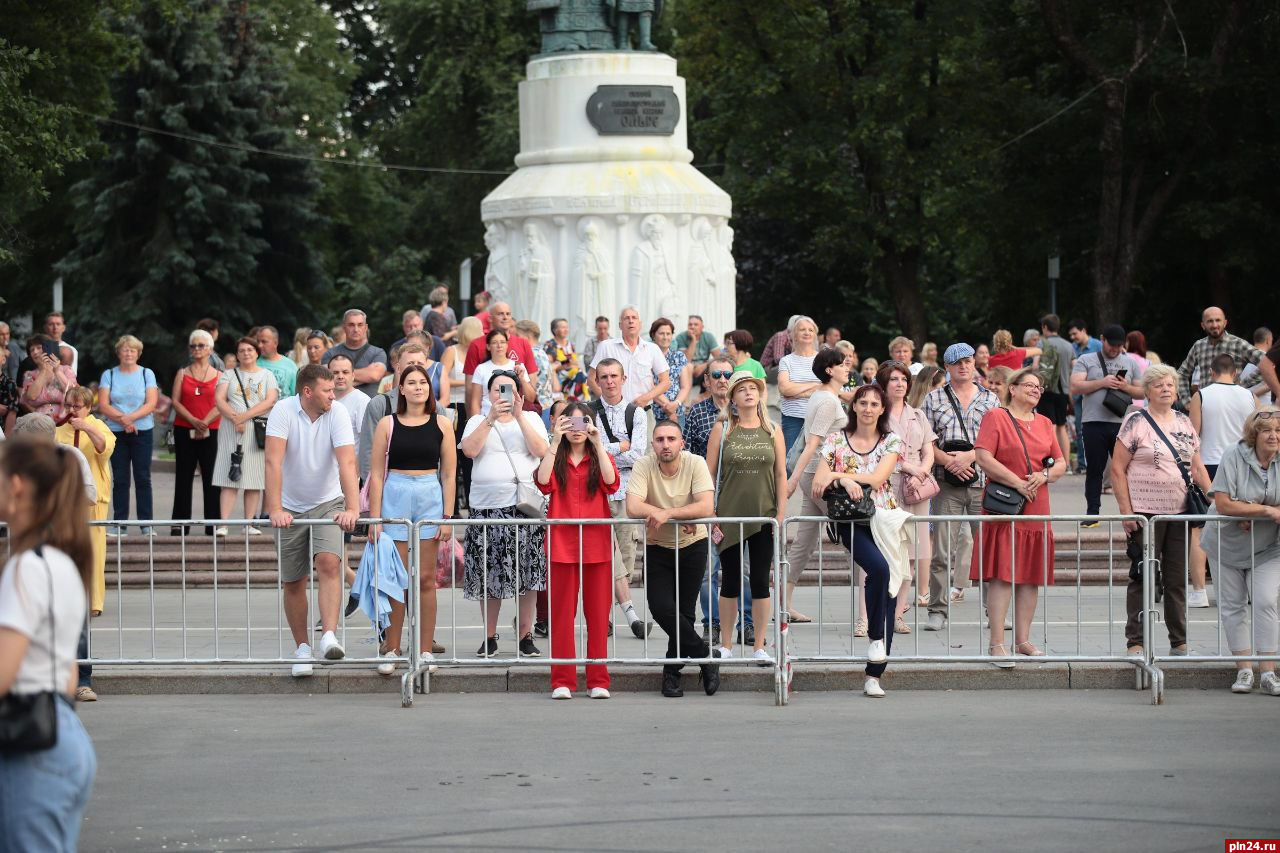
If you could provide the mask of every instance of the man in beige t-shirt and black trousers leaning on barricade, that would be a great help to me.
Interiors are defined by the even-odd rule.
[[[627,515],[644,519],[648,535],[645,596],[653,617],[669,638],[667,657],[709,658],[710,647],[694,628],[698,590],[707,573],[707,525],[681,523],[712,515],[716,484],[707,460],[685,451],[678,424],[659,423],[652,443],[653,453],[636,461],[627,483]],[[685,694],[680,686],[682,666],[663,667],[663,695]],[[703,663],[699,669],[703,689],[712,695],[719,688],[719,666]]]

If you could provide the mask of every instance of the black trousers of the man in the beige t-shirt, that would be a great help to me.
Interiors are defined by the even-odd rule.
[[[675,548],[660,546],[648,546],[644,549],[649,612],[662,630],[667,631],[667,657],[708,657],[710,647],[694,628],[698,590],[701,589],[703,574],[707,571],[707,539],[680,548],[678,569]],[[671,663],[663,667],[663,672],[678,674],[681,669],[682,665]]]

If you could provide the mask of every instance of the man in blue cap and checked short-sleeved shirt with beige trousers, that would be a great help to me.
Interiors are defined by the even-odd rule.
[[[968,343],[952,343],[942,355],[947,368],[947,384],[931,391],[924,398],[924,416],[933,425],[937,438],[934,450],[934,476],[938,479],[938,494],[933,498],[936,515],[979,515],[982,512],[982,487],[986,478],[978,467],[978,453],[972,450],[978,441],[978,428],[987,412],[1000,406],[1000,400],[991,391],[974,382],[977,366],[974,351]],[[961,421],[956,409],[964,412]],[[961,426],[963,424],[963,426]],[[947,442],[968,442],[970,450],[946,451]],[[950,474],[965,485],[947,482]],[[947,613],[952,601],[964,601],[964,589],[969,585],[969,561],[973,556],[973,538],[978,535],[978,525],[934,524],[933,558],[929,561],[929,621],[927,631],[941,631],[947,624]],[[947,569],[954,580],[948,589]],[[950,592],[950,596],[948,596]]]

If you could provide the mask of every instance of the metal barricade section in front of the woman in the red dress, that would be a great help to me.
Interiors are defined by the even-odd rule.
[[[1116,581],[1121,580],[1125,585],[1129,579],[1129,565],[1125,561],[1123,565],[1117,564],[1115,548],[1107,547],[1103,551],[1094,551],[1093,553],[1101,556],[1103,560],[1102,569],[1091,569],[1089,573],[1093,575],[1091,580],[1098,581],[1101,584],[1091,584],[1085,587],[1084,570],[1082,567],[1082,560],[1085,553],[1089,553],[1084,548],[1085,533],[1080,529],[1079,523],[1097,524],[1097,530],[1103,533],[1103,542],[1114,539],[1117,530],[1123,529],[1125,521],[1140,521],[1140,516],[1083,516],[1083,515],[1020,515],[1020,516],[996,516],[996,515],[920,515],[913,516],[911,521],[908,523],[909,526],[914,528],[914,534],[916,537],[929,532],[932,543],[934,546],[934,553],[931,557],[931,562],[923,570],[923,575],[931,579],[931,601],[928,610],[932,612],[943,615],[942,630],[927,631],[927,619],[928,615],[922,617],[923,607],[915,606],[914,597],[920,592],[918,583],[913,583],[909,590],[911,596],[910,606],[905,611],[905,621],[910,628],[909,634],[899,634],[897,639],[892,638],[893,633],[893,615],[888,616],[888,625],[886,626],[886,642],[892,646],[890,652],[888,665],[892,667],[893,663],[1004,663],[1010,662],[1044,662],[1044,663],[1059,663],[1059,662],[1111,662],[1111,663],[1130,663],[1135,667],[1135,680],[1137,688],[1149,686],[1152,688],[1153,701],[1158,697],[1158,672],[1155,671],[1151,661],[1148,658],[1132,657],[1125,653],[1125,639],[1123,633],[1117,635],[1116,628],[1123,626],[1126,621],[1126,608],[1123,598],[1117,602],[1116,598]],[[1062,533],[1055,539],[1052,535],[1052,524],[1071,524],[1073,533],[1064,535]],[[796,516],[788,517],[786,520],[786,530],[791,533],[797,525],[812,524],[826,526],[831,524],[824,516]],[[1010,533],[1007,537],[989,537],[992,539],[988,544],[988,537],[982,535],[982,530],[991,528],[992,525],[1009,526]],[[870,529],[868,525],[844,525],[846,530],[850,532],[851,539],[856,537],[870,537]],[[1014,538],[1012,530],[1016,528],[1032,528],[1032,533],[1038,533],[1038,547],[1041,553],[1038,555],[1038,571],[1041,575],[1041,583],[1028,584],[1016,583],[1018,575],[1018,555],[1015,548],[1001,546],[998,539]],[[822,528],[819,528],[820,530]],[[1123,530],[1121,530],[1123,532]],[[973,543],[966,542],[965,533],[977,533]],[[1094,539],[1096,534],[1089,534]],[[812,538],[812,532],[810,537]],[[1051,573],[1055,570],[1055,556],[1056,547],[1059,544],[1070,544],[1074,539],[1074,583],[1070,585],[1060,585],[1050,583],[1052,580]],[[787,537],[791,542],[792,537]],[[1033,537],[1033,542],[1036,538]],[[808,542],[804,539],[803,542]],[[855,542],[856,544],[856,542]],[[938,548],[942,548],[942,553],[938,553]],[[1007,652],[1005,654],[993,653],[995,646],[989,643],[991,626],[987,620],[987,605],[989,603],[989,583],[986,580],[979,580],[977,589],[969,589],[968,593],[975,593],[977,598],[972,598],[969,594],[964,596],[964,601],[955,601],[951,596],[951,587],[959,585],[961,589],[969,584],[969,565],[972,557],[982,565],[987,558],[987,548],[996,547],[997,555],[995,558],[1004,560],[1007,556],[1010,576],[1014,578],[1015,583],[1009,585],[1007,593],[1007,612],[1005,629],[997,631],[998,634],[1005,634],[1005,642],[1000,646],[1005,647],[1002,651]],[[786,685],[790,686],[791,683],[791,666],[794,663],[815,663],[815,662],[865,662],[865,644],[870,643],[869,637],[864,639],[863,624],[865,622],[867,607],[864,603],[864,594],[859,593],[859,588],[854,581],[854,555],[846,548],[841,556],[836,557],[837,565],[841,566],[841,587],[844,581],[849,583],[847,596],[845,594],[832,594],[831,587],[832,580],[828,579],[827,565],[829,562],[826,551],[819,547],[818,557],[818,583],[817,583],[817,613],[814,616],[813,624],[785,624],[782,630],[785,654],[783,675]],[[1071,552],[1071,548],[1066,548]],[[915,557],[915,548],[910,548],[911,557]],[[780,576],[790,580],[799,580],[800,573],[791,573],[791,557],[797,555],[782,555]],[[808,555],[799,555],[808,560]],[[1123,552],[1121,552],[1123,557]],[[845,574],[847,573],[847,574]],[[909,580],[918,581],[922,575],[922,567],[915,560],[911,561],[911,576]],[[1101,576],[1098,576],[1101,575]],[[963,583],[954,584],[954,579],[963,579]],[[785,584],[783,584],[785,585]],[[1033,587],[1043,590],[1043,594],[1037,594],[1034,603],[1027,601],[1028,597],[1020,598],[1020,589],[1027,587]],[[1101,588],[1101,593],[1096,592],[1096,588]],[[865,587],[863,588],[865,589]],[[1064,592],[1065,590],[1065,592]],[[901,596],[901,593],[900,593]],[[845,601],[847,598],[847,602]],[[941,601],[940,601],[941,598]],[[997,592],[997,601],[1004,601],[1004,592]],[[812,603],[812,602],[810,602]],[[782,612],[786,613],[791,602],[783,602]],[[1032,612],[1028,615],[1025,608],[1030,607]],[[998,603],[997,603],[998,608]],[[1027,620],[1028,634],[1025,643],[1030,646],[1016,644],[1014,638],[1007,637],[1009,633],[1014,633],[1016,637],[1016,629],[1012,628],[1019,617]],[[868,626],[869,634],[869,626]],[[904,640],[906,640],[908,648],[904,649]],[[896,642],[896,646],[893,643]],[[1044,652],[1043,656],[1027,656],[1019,652],[1025,649],[1028,652],[1033,651],[1032,646],[1039,646]],[[905,653],[904,653],[905,652]],[[1002,660],[1004,658],[1004,660]]]

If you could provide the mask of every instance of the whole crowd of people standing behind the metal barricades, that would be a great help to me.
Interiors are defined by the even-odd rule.
[[[285,352],[270,325],[220,345],[219,323],[201,320],[168,394],[132,334],[116,341],[116,365],[82,386],[60,314],[50,314],[24,348],[0,324],[0,423],[6,432],[52,425],[52,441],[73,448],[86,484],[96,487],[86,516],[111,521],[87,538],[90,612],[102,608],[106,537],[124,534],[131,497],[142,533],[156,534],[152,447],[157,433],[172,432],[170,533],[228,535],[225,523],[237,512],[243,535],[275,529],[297,676],[310,675],[317,656],[346,654],[335,633],[343,581],[353,576],[342,564],[343,533],[361,516],[467,517],[485,521],[458,533],[462,593],[485,625],[477,656],[502,653],[508,599],[516,601],[520,656],[541,656],[538,639],[548,637],[553,657],[575,656],[580,592],[590,657],[603,656],[614,605],[628,633],[646,637],[653,624],[631,590],[643,542],[648,611],[668,637],[667,654],[707,661],[700,681],[712,694],[716,661],[733,656],[736,644],[771,662],[776,649],[762,628],[773,617],[774,587],[788,622],[812,621],[792,593],[820,523],[794,525],[781,564],[788,571],[773,578],[773,529],[760,521],[782,525],[796,492],[803,516],[836,517],[836,507],[850,514],[836,532],[859,571],[854,634],[869,640],[868,695],[884,695],[879,679],[893,635],[911,631],[908,611],[925,607],[923,629],[943,630],[974,580],[988,590],[987,652],[997,666],[1012,666],[1019,656],[1044,654],[1032,642],[1030,620],[1039,588],[1053,583],[1051,528],[914,519],[992,512],[1000,500],[1015,512],[1048,515],[1052,484],[1080,471],[1089,516],[1100,515],[1105,492],[1121,512],[1152,516],[1183,512],[1199,488],[1217,512],[1254,519],[1252,546],[1230,525],[1211,524],[1204,542],[1197,528],[1158,525],[1166,625],[1172,653],[1185,653],[1185,607],[1208,605],[1212,565],[1233,651],[1275,652],[1280,419],[1271,401],[1280,393],[1280,348],[1266,329],[1253,343],[1229,334],[1220,309],[1204,310],[1206,337],[1174,369],[1139,332],[1107,325],[1094,338],[1073,320],[1062,338],[1052,314],[1021,336],[1023,346],[1000,329],[989,345],[925,342],[918,360],[906,337],[890,342],[887,359],[860,360],[837,328],[819,332],[815,320],[796,315],[756,360],[749,332],[717,337],[698,316],[678,333],[672,320],[653,319],[643,336],[644,319],[628,306],[617,336],[612,319],[600,316],[579,347],[586,330],[567,320],[553,320],[544,338],[486,295],[462,320],[448,302],[448,291],[436,288],[422,310],[406,311],[403,337],[387,350],[370,341],[360,309],[328,333],[298,329]],[[769,382],[777,384],[778,423],[767,405]],[[197,471],[201,519],[192,517]],[[726,521],[692,523],[712,516]],[[577,524],[548,525],[545,517]],[[321,520],[337,524],[298,524]],[[637,523],[611,524],[620,520]],[[1138,525],[1126,526],[1134,533]],[[420,648],[430,658],[444,651],[434,638],[434,566],[440,549],[453,552],[454,532],[448,524],[419,530]],[[369,533],[408,561],[410,528]],[[317,628],[307,612],[312,573]],[[1240,621],[1249,596],[1252,642]],[[380,630],[385,675],[403,657],[408,601],[408,590],[393,596]],[[348,613],[357,606],[353,590]],[[1126,626],[1134,653],[1143,651],[1140,607],[1139,574]],[[1010,608],[1014,635],[1006,640]],[[312,630],[320,633],[316,649]],[[1271,670],[1262,666],[1262,686],[1280,695]],[[1252,679],[1253,670],[1242,667],[1238,684],[1245,672]],[[586,678],[593,698],[608,697],[607,667],[593,665]],[[557,666],[552,683],[553,695],[567,698],[576,675]],[[664,670],[662,692],[682,694],[680,663]]]

